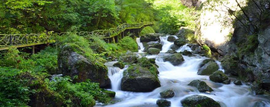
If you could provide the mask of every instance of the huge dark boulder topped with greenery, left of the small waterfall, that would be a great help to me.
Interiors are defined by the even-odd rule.
[[[107,67],[98,61],[89,61],[87,58],[76,53],[80,51],[79,49],[79,46],[75,44],[65,44],[60,47],[57,60],[60,73],[71,78],[78,76],[74,80],[75,82],[91,79],[91,81],[99,83],[100,87],[110,86]]]

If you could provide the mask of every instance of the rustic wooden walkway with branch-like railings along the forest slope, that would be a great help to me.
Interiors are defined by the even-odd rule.
[[[79,36],[85,38],[91,36],[99,36],[106,40],[106,42],[118,42],[126,35],[127,32],[138,35],[142,28],[153,25],[152,22],[139,23],[139,24],[121,24],[117,28],[110,28],[109,30],[97,30],[97,31],[81,31],[74,32]],[[53,36],[65,35],[67,32],[54,33],[52,31],[41,34],[0,34],[0,50],[7,50],[10,47],[27,47],[40,44],[46,44],[53,41]]]

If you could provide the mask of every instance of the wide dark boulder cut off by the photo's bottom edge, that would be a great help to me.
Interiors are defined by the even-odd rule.
[[[184,107],[221,107],[217,101],[201,95],[189,96],[181,100],[181,103]]]

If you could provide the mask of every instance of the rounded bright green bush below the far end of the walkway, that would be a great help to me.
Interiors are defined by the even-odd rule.
[[[138,51],[138,45],[137,42],[129,37],[125,36],[121,40],[119,40],[119,43],[117,45],[122,49],[122,50],[130,50],[132,52],[137,52]]]

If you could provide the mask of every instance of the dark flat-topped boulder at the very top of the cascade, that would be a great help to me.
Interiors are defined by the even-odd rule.
[[[141,36],[141,42],[151,42],[151,41],[160,41],[160,36],[164,36],[165,34],[146,34],[145,36]]]

